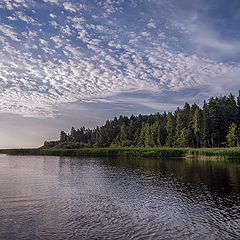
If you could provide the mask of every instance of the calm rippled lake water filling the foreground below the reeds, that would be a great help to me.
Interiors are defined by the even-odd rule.
[[[240,162],[0,155],[0,239],[240,239]]]

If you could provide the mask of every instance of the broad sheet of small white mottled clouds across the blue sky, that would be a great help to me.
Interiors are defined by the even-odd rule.
[[[0,111],[50,117],[61,104],[122,92],[219,94],[224,79],[235,88],[239,59],[221,58],[234,51],[214,27],[203,32],[201,7],[185,14],[174,0],[1,1]],[[219,52],[199,54],[196,43]]]

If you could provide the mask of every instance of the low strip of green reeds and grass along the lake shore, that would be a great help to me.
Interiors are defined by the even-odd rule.
[[[202,157],[240,159],[240,148],[82,148],[82,149],[4,149],[9,155],[93,156],[93,157]]]

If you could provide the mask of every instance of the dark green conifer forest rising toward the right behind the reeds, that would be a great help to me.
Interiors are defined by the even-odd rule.
[[[185,103],[174,112],[119,116],[93,129],[84,126],[61,131],[45,149],[102,147],[217,148],[240,145],[240,91],[211,97],[203,106]]]

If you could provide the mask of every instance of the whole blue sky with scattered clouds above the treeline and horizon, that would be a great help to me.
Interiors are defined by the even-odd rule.
[[[1,0],[0,148],[240,90],[239,0]]]

